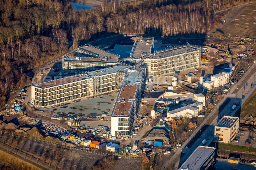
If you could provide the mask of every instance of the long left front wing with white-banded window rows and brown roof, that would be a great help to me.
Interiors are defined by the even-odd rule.
[[[31,103],[46,107],[119,90],[126,74],[124,67],[116,66],[33,84]]]

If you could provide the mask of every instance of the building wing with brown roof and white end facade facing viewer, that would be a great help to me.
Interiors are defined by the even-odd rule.
[[[134,119],[140,104],[144,71],[130,72],[124,77],[111,114],[112,136],[127,137],[130,135]]]

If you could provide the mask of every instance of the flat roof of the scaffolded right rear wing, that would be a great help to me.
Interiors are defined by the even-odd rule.
[[[176,48],[167,48],[161,51],[155,51],[155,55],[152,56],[153,59],[157,59],[157,58],[165,58],[165,57],[169,57],[169,56],[175,56],[178,54],[184,54],[184,53],[189,53],[192,51],[198,51],[199,48],[195,47],[195,46],[191,46],[191,45],[182,45],[182,46],[178,46]]]

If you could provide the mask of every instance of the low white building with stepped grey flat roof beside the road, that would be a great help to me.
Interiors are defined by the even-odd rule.
[[[195,117],[198,116],[199,111],[203,109],[203,104],[195,102],[193,104],[177,108],[175,110],[167,112],[167,117],[179,118],[179,117]]]

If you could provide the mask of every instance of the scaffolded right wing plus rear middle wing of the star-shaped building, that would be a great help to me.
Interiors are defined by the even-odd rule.
[[[137,38],[129,58],[120,58],[120,62],[129,65],[144,66],[147,76],[163,76],[200,66],[201,47],[180,45],[154,51],[154,37]]]

